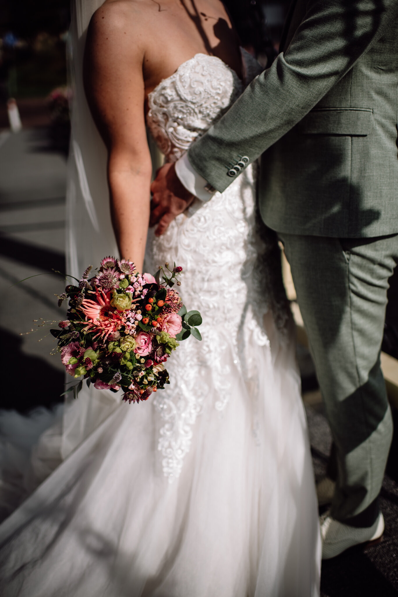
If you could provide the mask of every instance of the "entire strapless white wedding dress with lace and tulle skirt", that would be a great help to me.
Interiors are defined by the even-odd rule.
[[[254,67],[245,55],[246,78]],[[242,89],[203,54],[162,81],[147,124],[166,159]],[[146,270],[183,267],[181,294],[202,314],[203,340],[181,343],[170,385],[149,401],[85,388],[41,436],[26,491],[58,466],[0,525],[4,597],[319,595],[292,321],[254,177],[249,166],[165,235],[150,232]]]

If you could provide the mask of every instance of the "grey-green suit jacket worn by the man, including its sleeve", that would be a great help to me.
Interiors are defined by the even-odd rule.
[[[190,163],[223,191],[261,156],[277,232],[398,233],[398,0],[294,0],[281,49]]]

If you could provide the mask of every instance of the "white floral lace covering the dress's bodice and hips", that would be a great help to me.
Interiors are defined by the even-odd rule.
[[[251,60],[245,72],[254,76],[258,67]],[[147,124],[166,159],[178,159],[242,89],[242,82],[226,64],[204,54],[197,54],[162,81],[149,96]],[[263,316],[271,309],[280,330],[289,319],[277,273],[278,255],[276,236],[257,214],[252,166],[224,193],[215,193],[205,204],[198,200],[161,237],[149,233],[146,270],[165,261],[181,265],[183,300],[191,309],[200,309],[203,317],[203,340],[181,344],[168,362],[170,386],[154,400],[163,423],[158,448],[169,481],[180,475],[203,408],[215,408],[220,414],[225,410],[234,369],[240,372],[254,403],[258,399],[260,371],[254,353],[258,347],[269,346]],[[255,414],[252,427],[256,435]]]

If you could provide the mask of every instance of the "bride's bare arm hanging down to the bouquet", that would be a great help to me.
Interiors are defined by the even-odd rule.
[[[134,38],[120,11],[100,8],[88,28],[84,84],[108,150],[110,208],[120,255],[142,271],[152,164],[144,119],[144,50],[139,36]]]

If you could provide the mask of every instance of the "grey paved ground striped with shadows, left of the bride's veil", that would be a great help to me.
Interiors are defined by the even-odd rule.
[[[1,404],[6,408],[50,404],[63,392],[63,367],[50,354],[55,343],[49,328],[19,334],[34,327],[33,319],[60,317],[54,293],[64,284],[52,270],[65,267],[65,179],[66,161],[51,149],[45,129],[0,133],[0,335],[8,371]],[[36,277],[20,282],[28,276]]]

